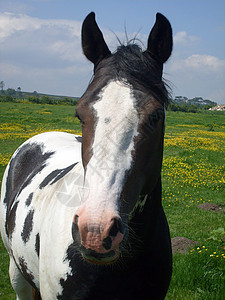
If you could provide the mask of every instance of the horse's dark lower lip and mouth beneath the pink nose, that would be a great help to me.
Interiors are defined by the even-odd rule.
[[[120,257],[119,251],[111,250],[107,253],[97,253],[94,250],[81,247],[81,255],[83,259],[94,265],[111,265],[114,264]]]

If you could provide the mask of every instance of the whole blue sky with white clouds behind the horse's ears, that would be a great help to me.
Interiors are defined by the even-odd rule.
[[[173,54],[164,66],[173,96],[225,104],[224,0],[1,0],[0,81],[64,96],[81,96],[93,66],[83,56],[81,25],[91,12],[111,51],[117,37],[137,34],[145,49],[157,12],[173,28]],[[117,37],[116,37],[117,36]]]

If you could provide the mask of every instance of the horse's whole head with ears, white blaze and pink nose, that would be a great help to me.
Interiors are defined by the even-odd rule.
[[[85,188],[74,217],[83,257],[114,262],[140,195],[150,194],[162,164],[164,62],[172,51],[169,21],[157,14],[147,50],[135,44],[113,54],[90,13],[82,27],[82,47],[94,77],[76,112],[82,124]],[[75,238],[76,239],[76,238]]]

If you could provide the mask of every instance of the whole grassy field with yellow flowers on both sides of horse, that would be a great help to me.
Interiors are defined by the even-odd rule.
[[[74,107],[0,103],[0,178],[13,151],[44,131],[80,132]],[[163,161],[163,205],[172,237],[198,244],[174,255],[169,299],[225,299],[225,213],[198,205],[224,199],[225,116],[168,112]],[[0,243],[0,299],[15,299],[8,255]]]

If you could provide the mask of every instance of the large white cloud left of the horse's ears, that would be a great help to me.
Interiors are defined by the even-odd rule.
[[[0,14],[1,80],[11,88],[19,85],[24,90],[80,95],[78,77],[83,79],[86,71],[86,82],[90,78],[80,31],[81,22],[77,21]]]

